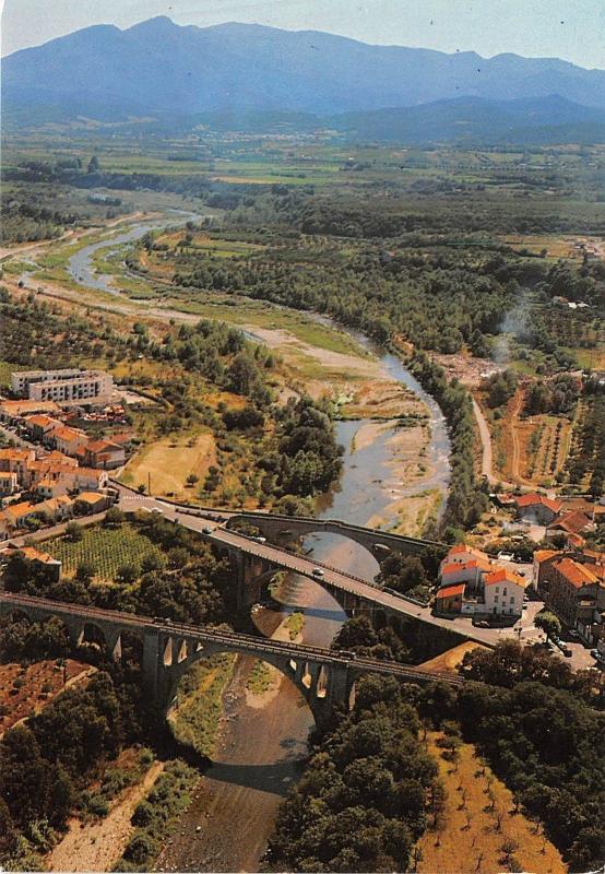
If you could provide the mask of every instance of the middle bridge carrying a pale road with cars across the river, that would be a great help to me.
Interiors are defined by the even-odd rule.
[[[272,571],[289,570],[315,580],[333,595],[344,611],[353,615],[358,612],[371,612],[384,621],[394,623],[402,617],[411,617],[486,647],[494,647],[499,640],[514,635],[514,630],[510,627],[479,628],[466,617],[435,616],[430,607],[403,595],[378,589],[368,580],[322,565],[306,555],[288,552],[282,546],[269,542],[260,543],[254,538],[229,530],[225,524],[223,511],[174,505],[158,498],[134,495],[130,491],[121,493],[119,506],[127,512],[142,508],[161,512],[166,519],[198,532],[220,552],[228,554],[237,575],[240,607],[259,600],[262,582]],[[289,520],[289,517],[285,518]],[[321,576],[317,575],[318,569]]]

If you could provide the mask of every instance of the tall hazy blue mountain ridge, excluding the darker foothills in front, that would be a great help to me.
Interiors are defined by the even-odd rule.
[[[111,62],[108,62],[110,58]],[[86,101],[134,114],[274,111],[334,115],[459,96],[561,97],[605,108],[605,71],[558,58],[372,46],[319,31],[229,22],[200,28],[168,16],[127,29],[94,25],[2,59],[9,110]]]

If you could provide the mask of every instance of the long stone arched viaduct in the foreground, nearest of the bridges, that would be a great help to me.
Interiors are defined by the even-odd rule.
[[[443,681],[459,686],[464,681],[451,674],[422,668],[356,658],[351,652],[332,651],[281,640],[237,634],[223,628],[150,619],[23,594],[0,593],[0,616],[27,622],[60,618],[74,646],[94,643],[115,660],[121,658],[121,638],[128,631],[142,642],[143,683],[151,700],[164,710],[175,702],[182,674],[200,659],[217,652],[252,656],[272,664],[301,693],[316,722],[321,723],[334,706],[349,708],[355,683],[365,674],[395,676],[402,682]]]

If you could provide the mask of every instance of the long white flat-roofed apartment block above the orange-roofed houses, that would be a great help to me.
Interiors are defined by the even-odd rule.
[[[11,375],[11,388],[15,394],[32,401],[85,406],[108,403],[114,379],[103,370],[23,370]]]

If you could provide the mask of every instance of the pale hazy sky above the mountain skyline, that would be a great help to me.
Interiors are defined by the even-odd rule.
[[[605,69],[605,0],[0,0],[2,54],[91,24],[128,27],[154,15],[206,26],[257,22],[366,43],[557,56]]]

